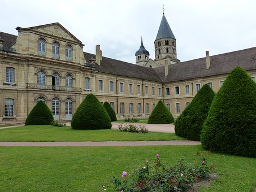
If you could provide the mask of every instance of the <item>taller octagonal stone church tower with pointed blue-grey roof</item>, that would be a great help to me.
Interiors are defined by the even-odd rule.
[[[168,61],[168,64],[180,62],[180,60],[177,59],[176,38],[174,37],[170,25],[164,16],[164,12],[154,44],[155,62],[160,66],[164,65],[165,60]]]

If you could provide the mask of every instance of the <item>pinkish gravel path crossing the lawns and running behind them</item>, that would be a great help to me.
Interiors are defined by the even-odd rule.
[[[118,124],[112,122],[112,129],[118,129]],[[123,123],[126,124],[126,123]],[[134,123],[139,125],[140,123]],[[70,126],[70,123],[67,123]],[[175,133],[173,124],[142,124],[150,132],[165,132]],[[24,124],[1,127],[0,129],[7,129],[17,126],[24,126]],[[0,146],[157,146],[157,145],[201,145],[199,141],[55,141],[55,142],[0,142]]]

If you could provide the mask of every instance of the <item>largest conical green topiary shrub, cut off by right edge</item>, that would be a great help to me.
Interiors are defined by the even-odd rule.
[[[203,149],[256,157],[256,84],[240,67],[233,69],[212,101],[203,124]]]

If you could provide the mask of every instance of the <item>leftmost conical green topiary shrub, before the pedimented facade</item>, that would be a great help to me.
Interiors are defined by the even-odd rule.
[[[29,113],[25,125],[50,125],[53,121],[50,109],[43,101],[39,101]]]

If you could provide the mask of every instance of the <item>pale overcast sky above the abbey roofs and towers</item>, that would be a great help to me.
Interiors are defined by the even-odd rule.
[[[84,51],[135,63],[144,46],[154,59],[154,40],[164,15],[176,38],[181,62],[256,46],[255,0],[44,0],[1,1],[0,30],[59,22]]]

